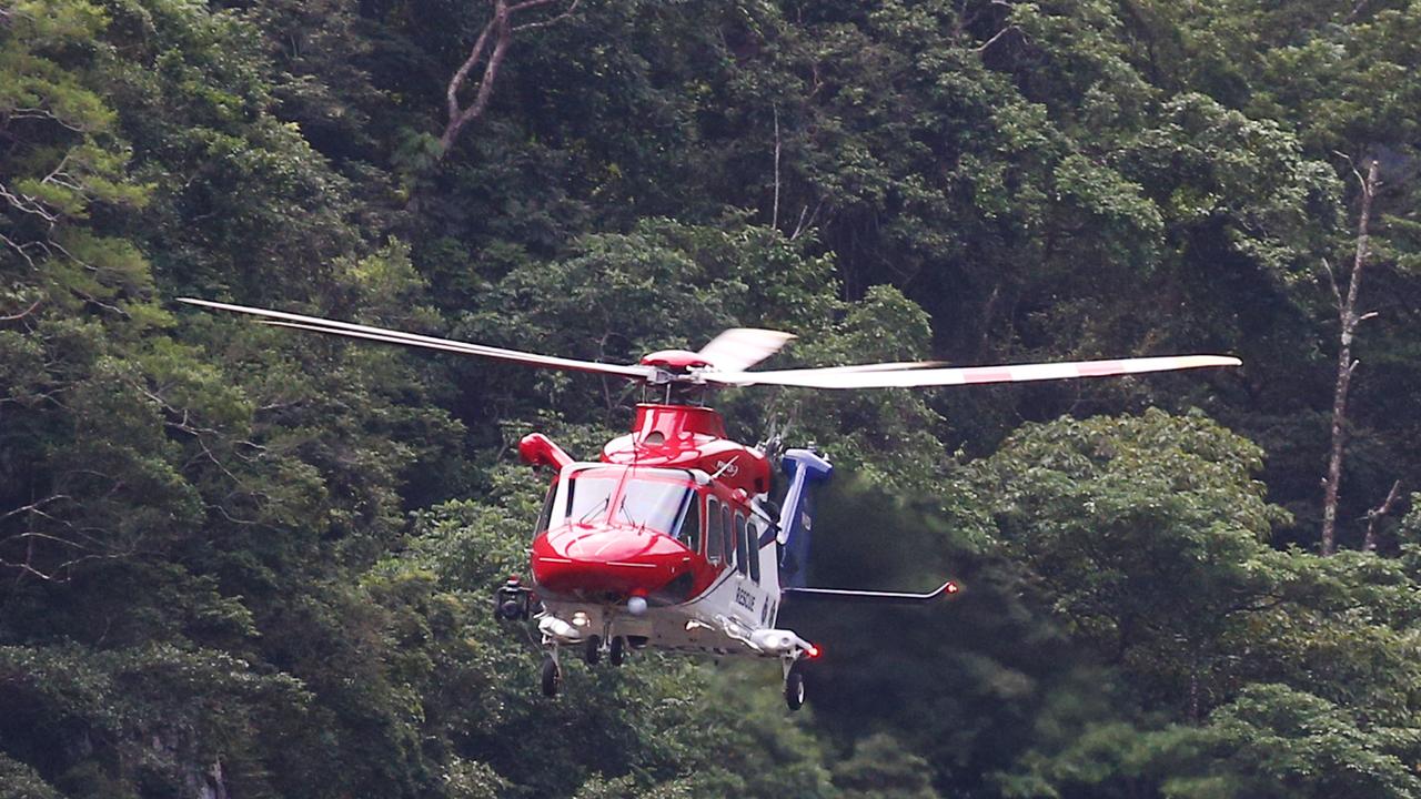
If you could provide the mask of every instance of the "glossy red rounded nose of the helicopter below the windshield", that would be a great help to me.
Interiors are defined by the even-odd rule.
[[[533,577],[553,594],[584,600],[657,597],[689,573],[691,552],[644,527],[570,525],[533,542]]]

